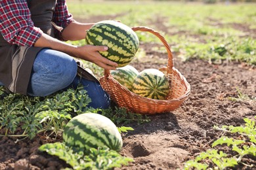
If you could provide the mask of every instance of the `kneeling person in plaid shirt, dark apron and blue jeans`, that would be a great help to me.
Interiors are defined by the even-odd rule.
[[[85,39],[93,24],[76,22],[66,0],[3,0],[0,5],[0,84],[13,93],[31,96],[83,84],[92,99],[89,106],[109,106],[108,94],[98,81],[77,76],[73,58],[116,69],[117,63],[99,54],[108,48],[64,42]]]

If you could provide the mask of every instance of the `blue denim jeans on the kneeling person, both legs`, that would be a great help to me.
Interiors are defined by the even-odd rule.
[[[100,84],[80,78],[76,74],[77,63],[74,58],[63,52],[44,48],[33,63],[28,95],[47,96],[65,88],[77,88],[78,84],[82,84],[91,98],[89,107],[107,109],[110,98]]]

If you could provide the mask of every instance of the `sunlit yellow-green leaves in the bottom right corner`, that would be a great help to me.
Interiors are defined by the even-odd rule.
[[[200,153],[195,160],[186,161],[184,169],[191,169],[193,167],[196,169],[207,169],[209,167],[207,162],[209,163],[209,161],[213,163],[215,169],[226,169],[227,167],[238,165],[246,155],[256,156],[256,121],[249,118],[244,118],[244,121],[244,126],[215,127],[221,131],[239,134],[239,139],[223,136],[212,144],[212,147],[225,144],[237,153],[235,156],[230,156],[221,150],[209,149],[206,152]]]

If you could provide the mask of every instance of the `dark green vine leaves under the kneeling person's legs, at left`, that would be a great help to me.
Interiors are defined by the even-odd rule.
[[[0,129],[5,129],[3,135],[30,139],[42,131],[60,133],[72,114],[84,112],[91,101],[86,91],[80,89],[69,89],[48,97],[7,94],[4,88],[0,92],[4,95],[0,107]],[[19,126],[22,131],[18,131]]]

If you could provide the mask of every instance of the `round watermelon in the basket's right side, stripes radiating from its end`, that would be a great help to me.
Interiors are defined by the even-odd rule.
[[[151,99],[165,99],[169,82],[158,69],[145,69],[133,81],[133,92]]]

